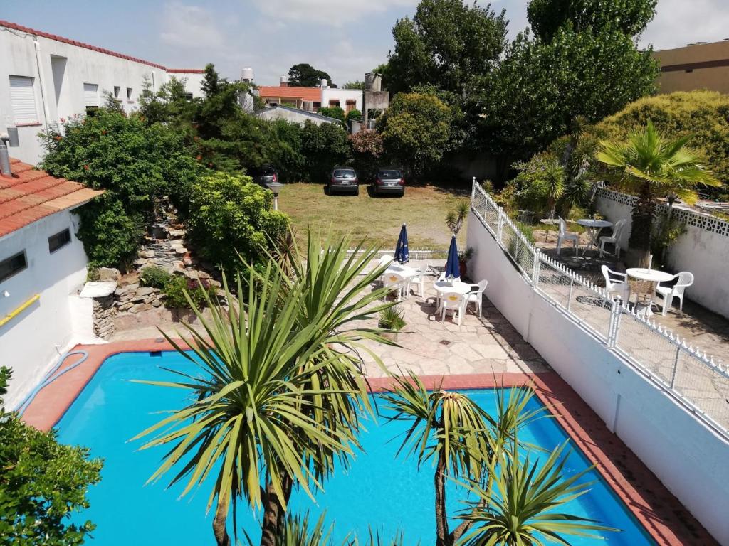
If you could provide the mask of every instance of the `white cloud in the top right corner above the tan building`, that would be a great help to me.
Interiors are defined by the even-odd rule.
[[[729,38],[727,0],[658,0],[656,12],[641,37],[644,46],[667,50]]]

